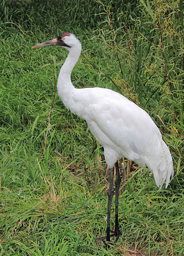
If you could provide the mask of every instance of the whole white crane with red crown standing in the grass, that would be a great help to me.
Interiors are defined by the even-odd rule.
[[[71,82],[71,72],[81,52],[81,43],[74,34],[61,34],[57,38],[37,44],[32,48],[61,46],[69,54],[61,67],[58,78],[58,95],[67,109],[85,119],[93,136],[104,148],[104,156],[109,167],[110,184],[107,206],[107,235],[96,240],[116,236],[121,232],[118,224],[118,196],[120,172],[117,160],[126,157],[147,166],[153,172],[158,188],[166,182],[166,188],[173,177],[173,164],[169,148],[163,141],[161,133],[151,117],[138,105],[123,95],[107,88],[77,89]],[[115,181],[115,231],[110,234],[110,209],[113,187],[113,167],[116,167]]]

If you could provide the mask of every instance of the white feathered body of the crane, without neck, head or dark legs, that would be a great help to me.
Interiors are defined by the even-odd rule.
[[[83,95],[82,101],[80,100]],[[126,157],[153,172],[156,185],[169,184],[173,175],[172,158],[151,117],[121,94],[104,88],[77,89],[74,109],[104,147],[109,168]]]

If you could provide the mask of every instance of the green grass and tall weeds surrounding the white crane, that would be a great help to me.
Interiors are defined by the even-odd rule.
[[[55,95],[67,52],[31,50],[68,32],[83,47],[73,84],[136,102],[173,157],[160,192],[148,170],[121,160],[122,236],[108,251],[94,242],[106,233],[103,149]],[[1,0],[0,63],[0,256],[184,255],[183,1]]]

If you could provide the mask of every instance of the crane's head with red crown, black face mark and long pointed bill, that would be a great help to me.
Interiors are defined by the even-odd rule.
[[[42,48],[45,46],[52,46],[52,45],[61,46],[67,49],[68,51],[71,51],[72,48],[76,48],[78,46],[81,48],[81,43],[74,34],[65,33],[65,34],[59,35],[58,37],[52,40],[46,41],[41,44],[37,44],[33,46],[32,49]]]

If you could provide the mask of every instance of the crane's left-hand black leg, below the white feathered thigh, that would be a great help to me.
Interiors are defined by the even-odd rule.
[[[113,168],[109,168],[109,189],[108,189],[108,205],[107,205],[107,242],[110,242],[110,210],[112,197],[114,195],[114,187],[113,187]]]

